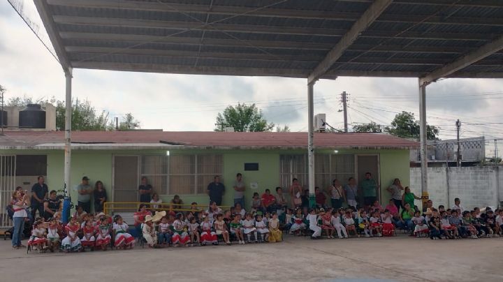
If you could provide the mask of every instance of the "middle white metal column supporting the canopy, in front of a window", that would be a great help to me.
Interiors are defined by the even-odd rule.
[[[309,207],[314,207],[314,82],[307,84],[307,161],[309,163]]]

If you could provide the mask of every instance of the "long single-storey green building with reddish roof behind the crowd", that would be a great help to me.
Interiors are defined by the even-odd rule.
[[[325,189],[332,179],[359,181],[368,171],[381,184],[379,198],[387,201],[393,179],[409,184],[409,149],[417,146],[381,133],[315,133],[315,184]],[[177,194],[185,203],[206,204],[207,185],[220,175],[223,205],[232,205],[235,175],[241,172],[249,207],[254,192],[289,188],[293,177],[307,189],[306,153],[307,133],[76,131],[70,191],[76,202],[73,186],[87,176],[92,185],[103,181],[109,201],[136,202],[145,176],[163,202]],[[46,177],[50,190],[64,188],[64,132],[6,132],[0,155],[0,212],[16,186],[30,190],[38,175]]]

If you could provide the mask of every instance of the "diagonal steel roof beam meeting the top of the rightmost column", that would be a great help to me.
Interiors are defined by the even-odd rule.
[[[503,50],[503,36],[497,38],[496,40],[493,40],[490,43],[487,43],[486,45],[483,45],[482,47],[479,47],[479,49],[477,50],[465,54],[464,56],[456,59],[450,64],[446,64],[442,68],[438,68],[437,70],[432,71],[432,73],[421,77],[421,85],[428,85],[432,82],[437,81],[439,78],[447,77],[457,71],[460,71],[462,68],[474,64],[477,61],[480,61],[481,59],[484,59],[500,50]]]

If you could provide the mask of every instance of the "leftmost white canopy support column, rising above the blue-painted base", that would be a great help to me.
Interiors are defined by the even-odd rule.
[[[65,195],[70,195],[71,185],[71,115],[72,115],[72,101],[71,101],[71,80],[72,69],[64,70],[66,77],[66,111],[65,111],[65,163],[64,163],[64,190]]]

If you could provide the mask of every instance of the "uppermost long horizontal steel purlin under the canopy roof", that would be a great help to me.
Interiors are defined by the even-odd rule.
[[[48,0],[48,3],[55,6],[69,6],[80,8],[107,8],[120,10],[145,10],[145,11],[162,11],[170,13],[203,13],[210,15],[240,15],[254,17],[281,17],[281,18],[298,18],[310,20],[343,20],[356,21],[360,17],[360,13],[353,12],[335,12],[326,10],[293,10],[279,8],[263,8],[256,10],[253,7],[242,6],[212,6],[208,10],[205,5],[187,4],[187,3],[159,3],[159,2],[143,2],[126,1],[126,0]],[[395,0],[393,3],[397,3]],[[426,24],[463,24],[463,25],[503,25],[501,18],[471,18],[471,17],[442,17],[432,16],[425,20],[428,15],[393,15],[383,14],[377,18],[376,22],[424,22]]]

